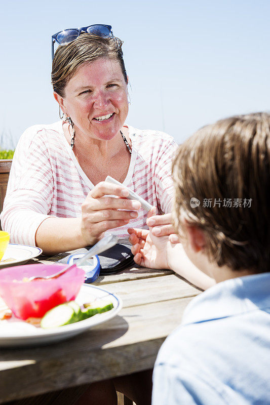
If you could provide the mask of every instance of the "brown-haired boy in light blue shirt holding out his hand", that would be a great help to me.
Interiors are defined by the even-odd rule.
[[[152,404],[269,404],[270,114],[202,128],[179,147],[173,178],[182,245],[130,229],[134,260],[210,288],[162,345]]]

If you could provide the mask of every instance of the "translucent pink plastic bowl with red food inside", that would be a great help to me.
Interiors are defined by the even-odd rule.
[[[74,267],[58,278],[22,281],[33,275],[51,275],[66,264],[28,264],[0,270],[0,295],[21,319],[41,317],[49,309],[74,300],[85,279],[84,270]]]

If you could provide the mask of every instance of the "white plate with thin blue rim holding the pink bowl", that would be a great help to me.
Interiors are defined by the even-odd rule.
[[[119,297],[99,287],[85,284],[81,287],[75,301],[82,305],[102,297],[108,297],[111,300],[113,309],[58,328],[36,328],[18,318],[16,321],[13,319],[0,320],[0,347],[22,347],[54,343],[78,335],[99,323],[105,322],[117,315],[122,308],[122,300]]]

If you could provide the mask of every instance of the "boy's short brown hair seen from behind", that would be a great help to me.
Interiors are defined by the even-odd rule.
[[[206,253],[219,266],[269,271],[270,114],[203,127],[179,147],[172,171],[177,229],[184,213],[204,231]]]

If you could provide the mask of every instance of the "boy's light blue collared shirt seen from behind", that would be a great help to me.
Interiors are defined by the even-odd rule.
[[[187,306],[163,343],[152,405],[270,404],[270,273],[229,279]]]

